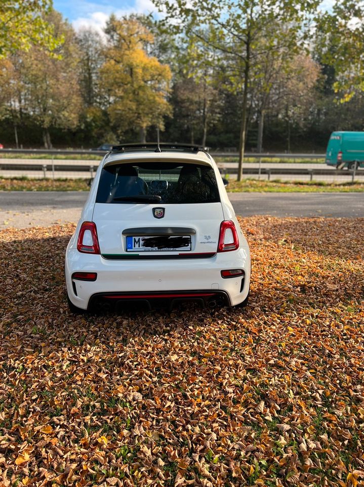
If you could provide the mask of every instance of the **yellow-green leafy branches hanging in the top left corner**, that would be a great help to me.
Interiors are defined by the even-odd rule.
[[[45,19],[52,0],[1,0],[0,58],[17,50],[27,51],[32,45],[54,50],[61,42],[52,25]]]

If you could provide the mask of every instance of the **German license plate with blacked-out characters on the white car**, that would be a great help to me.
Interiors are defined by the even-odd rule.
[[[179,250],[191,250],[191,235],[127,237],[127,252],[177,252]]]

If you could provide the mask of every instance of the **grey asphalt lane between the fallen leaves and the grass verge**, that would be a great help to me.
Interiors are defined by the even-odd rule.
[[[88,193],[0,191],[0,229],[77,222]],[[237,215],[364,217],[363,193],[229,193]]]

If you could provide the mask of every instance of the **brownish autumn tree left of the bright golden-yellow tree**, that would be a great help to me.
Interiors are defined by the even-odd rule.
[[[52,147],[50,128],[75,128],[81,107],[77,75],[78,48],[72,27],[60,13],[52,11],[47,20],[64,43],[57,48],[58,57],[50,56],[39,47],[23,53],[24,84],[27,109],[43,128],[47,149]]]

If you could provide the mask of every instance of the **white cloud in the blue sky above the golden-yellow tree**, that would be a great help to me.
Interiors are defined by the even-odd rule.
[[[95,4],[90,4],[90,7],[94,5]],[[98,5],[98,8],[100,7],[102,8],[101,5]],[[103,28],[111,13],[114,13],[116,17],[123,17],[124,15],[149,14],[151,12],[156,13],[156,8],[151,0],[135,0],[134,6],[125,9],[112,9],[109,6],[105,6],[105,10],[103,11],[94,11],[90,12],[88,15],[77,17],[72,21],[72,25],[75,30],[92,28],[103,34]]]

